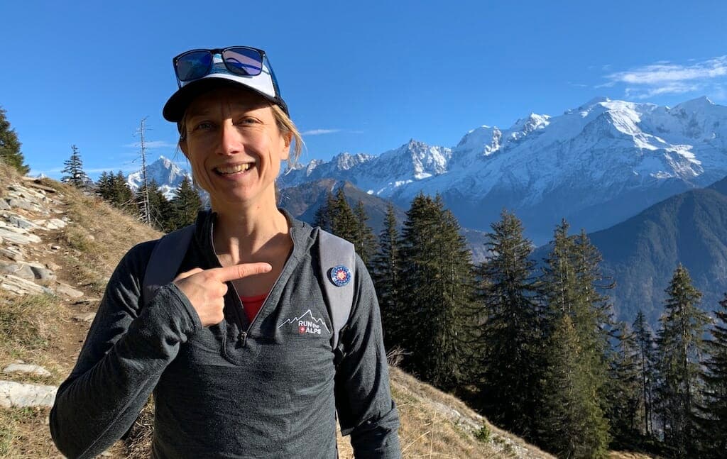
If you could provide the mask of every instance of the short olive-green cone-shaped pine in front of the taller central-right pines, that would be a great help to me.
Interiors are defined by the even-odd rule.
[[[553,324],[542,382],[540,438],[560,458],[605,458],[608,425],[583,365],[588,356],[569,314]]]

